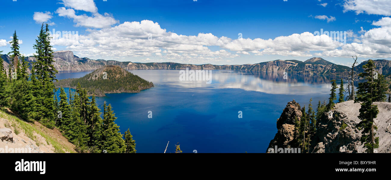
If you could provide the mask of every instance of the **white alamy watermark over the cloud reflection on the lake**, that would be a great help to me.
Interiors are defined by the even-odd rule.
[[[212,83],[211,70],[185,70],[179,71],[179,81],[206,81],[206,84]]]

